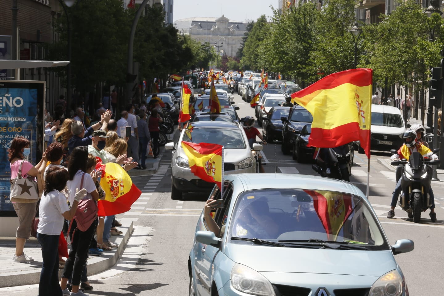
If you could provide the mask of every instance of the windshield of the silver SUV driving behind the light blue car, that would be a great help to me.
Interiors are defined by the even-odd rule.
[[[222,145],[227,149],[245,149],[241,130],[214,127],[188,128],[182,141]]]

